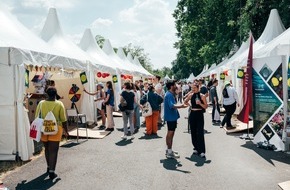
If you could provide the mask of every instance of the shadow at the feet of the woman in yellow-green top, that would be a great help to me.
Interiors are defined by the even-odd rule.
[[[55,182],[53,182],[50,179],[45,179],[48,177],[47,173],[42,174],[41,176],[27,182],[26,180],[22,181],[21,183],[18,183],[16,186],[16,190],[44,190],[49,189],[54,184],[56,184],[58,181],[60,181],[60,178],[57,178]]]

